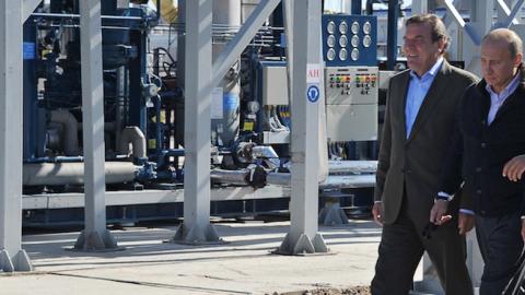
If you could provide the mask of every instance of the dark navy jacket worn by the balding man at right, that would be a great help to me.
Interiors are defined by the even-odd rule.
[[[525,154],[525,79],[489,126],[490,94],[485,80],[470,86],[457,109],[457,129],[442,173],[442,191],[453,193],[464,182],[463,198],[471,198],[481,216],[524,212],[523,184],[502,176],[503,166]]]

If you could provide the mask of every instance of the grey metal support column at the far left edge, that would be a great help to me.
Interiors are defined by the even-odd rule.
[[[0,1],[0,270],[31,271],[22,249],[22,2]]]

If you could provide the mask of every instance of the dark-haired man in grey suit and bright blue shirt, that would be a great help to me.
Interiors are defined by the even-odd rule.
[[[459,206],[469,205],[455,198],[453,222],[440,226],[432,239],[422,234],[440,189],[457,104],[477,81],[444,60],[447,45],[445,26],[436,15],[407,20],[404,51],[410,69],[390,79],[381,139],[373,214],[383,234],[373,295],[407,295],[424,251],[447,295],[472,294],[460,234],[471,228],[474,217],[458,213]]]

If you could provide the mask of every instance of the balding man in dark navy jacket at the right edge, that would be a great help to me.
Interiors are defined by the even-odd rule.
[[[523,185],[505,163],[525,153],[523,45],[512,31],[490,32],[481,44],[483,80],[470,86],[457,110],[457,130],[430,221],[440,224],[447,197],[463,184],[474,199],[476,234],[485,260],[480,295],[501,294],[522,249]],[[511,179],[510,179],[511,178]]]

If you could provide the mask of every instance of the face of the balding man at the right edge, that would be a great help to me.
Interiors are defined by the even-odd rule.
[[[505,88],[521,62],[522,54],[512,58],[506,42],[481,44],[481,72],[487,84],[498,93]]]

